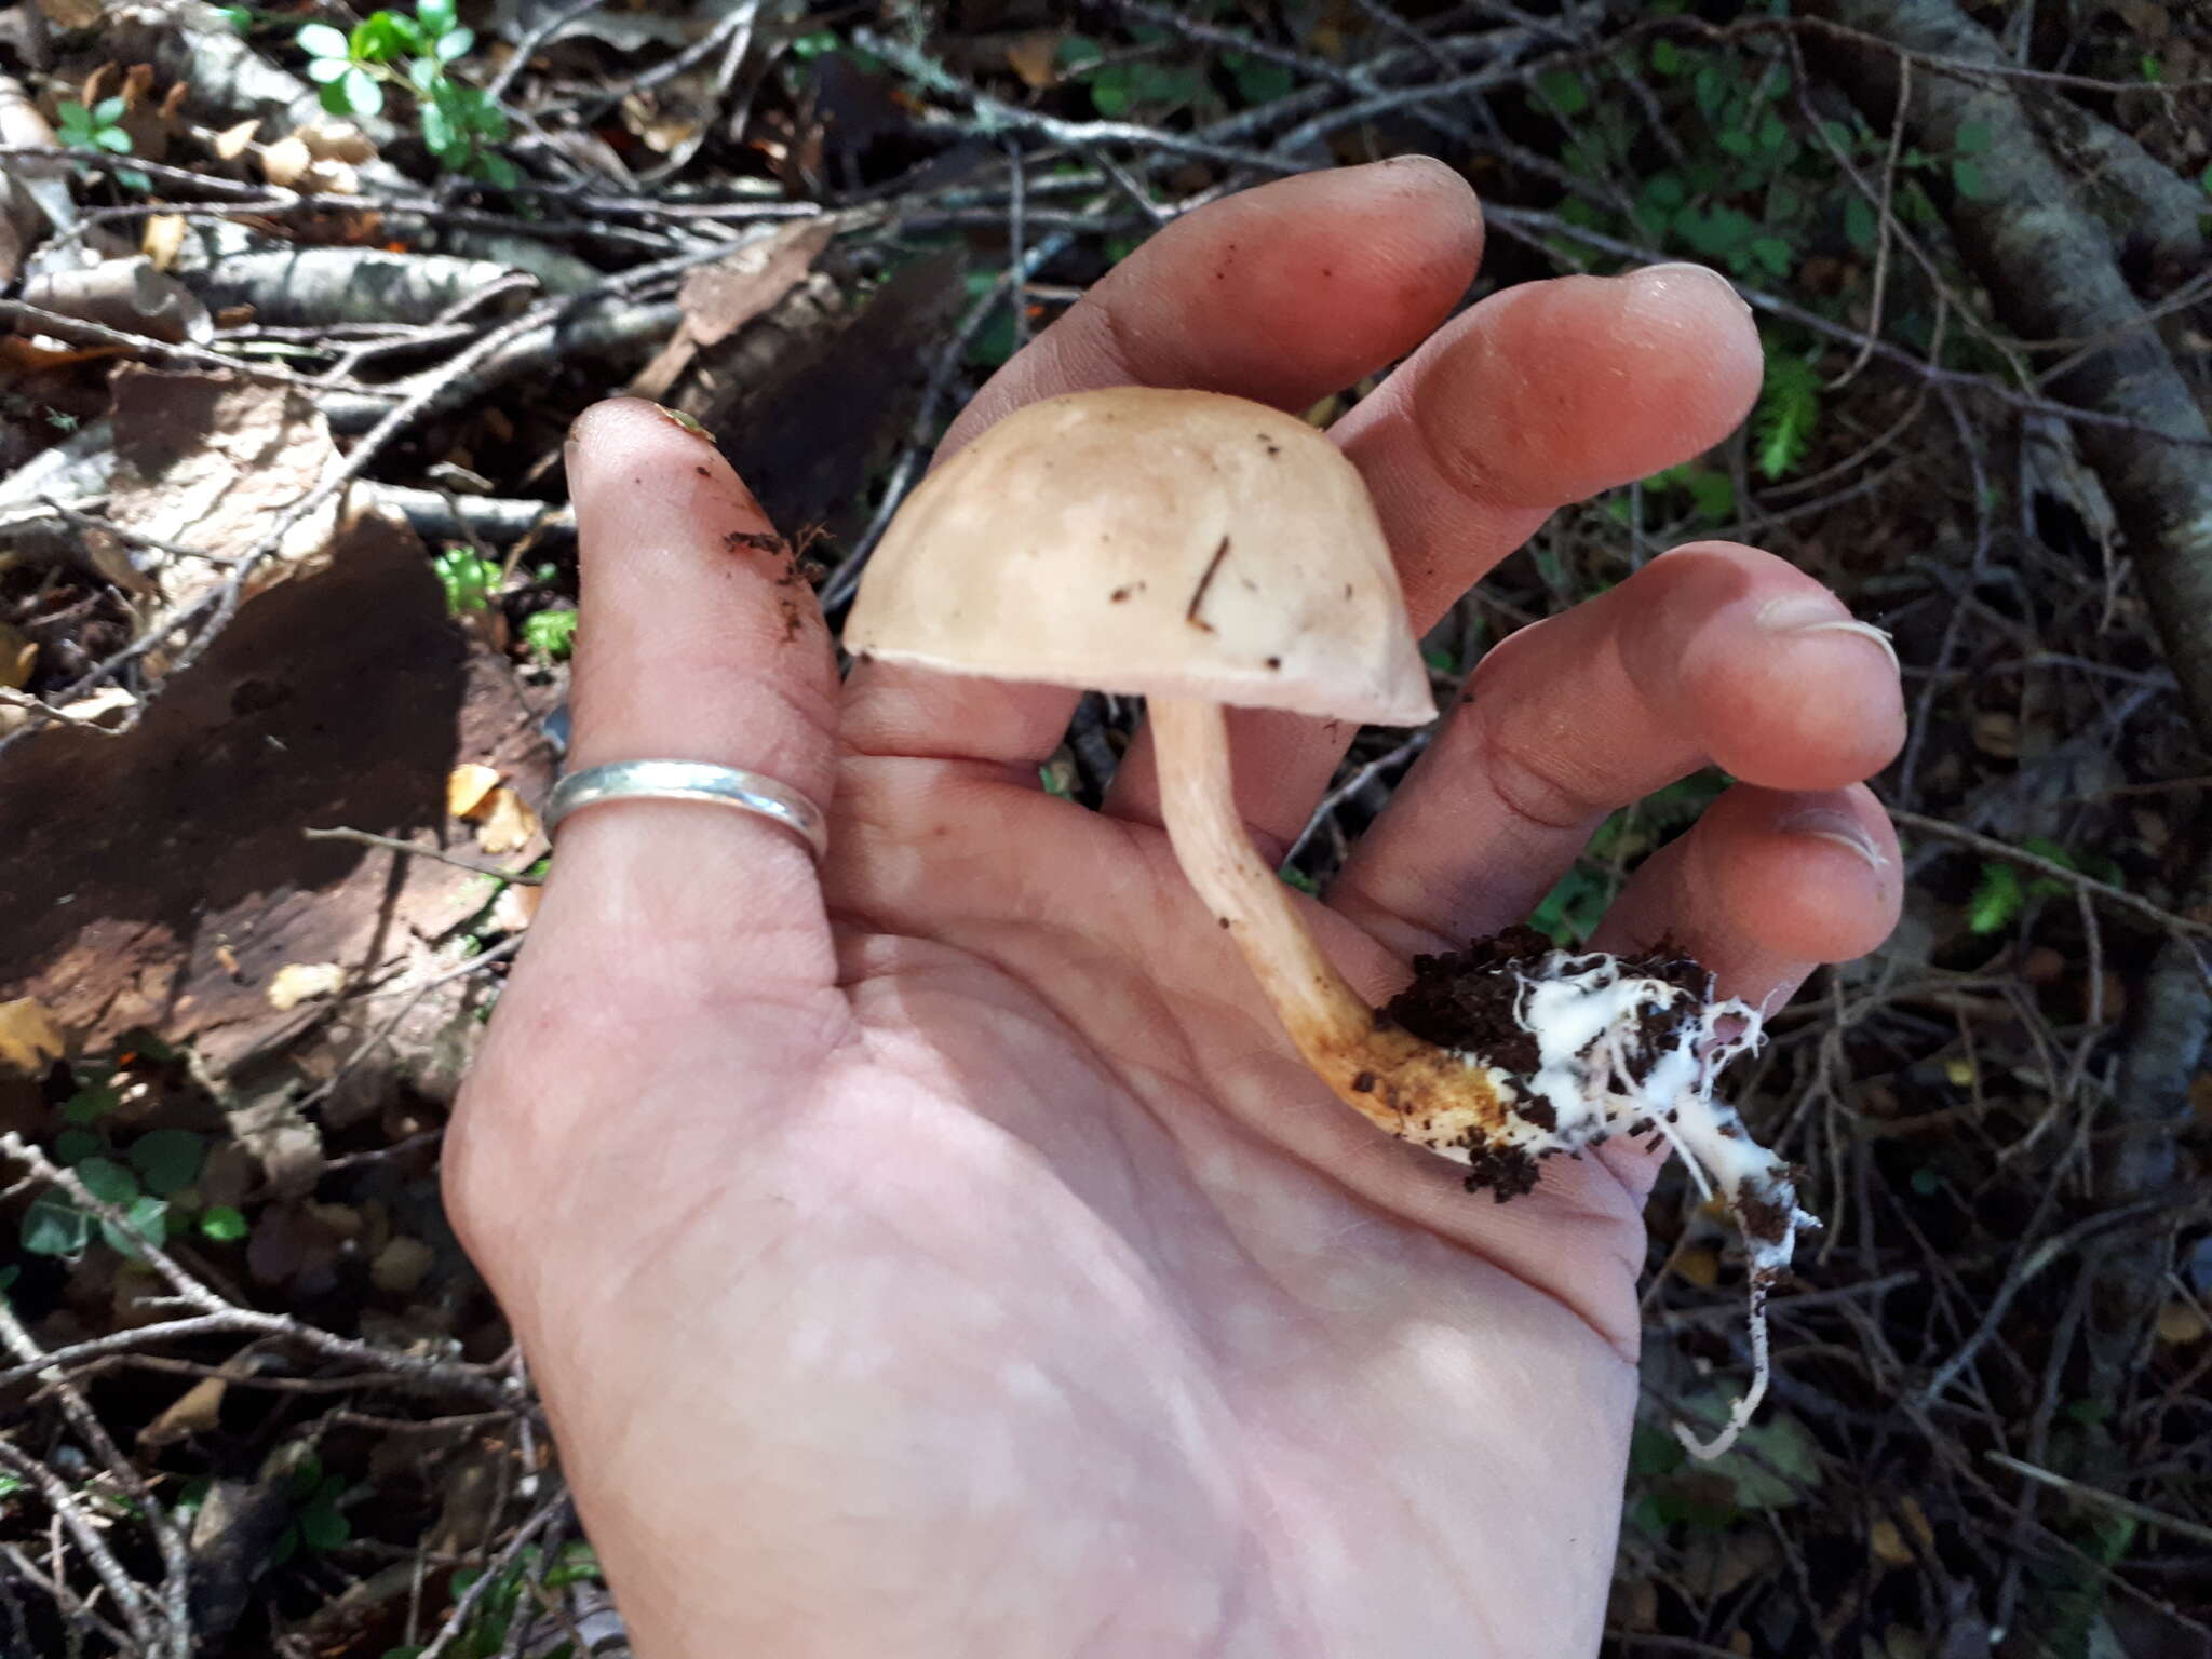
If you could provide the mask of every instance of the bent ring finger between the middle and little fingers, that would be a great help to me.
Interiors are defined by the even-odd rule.
[[[1701,765],[1774,790],[1905,743],[1887,639],[1772,553],[1701,542],[1489,653],[1329,902],[1398,951],[1535,909],[1608,812]]]

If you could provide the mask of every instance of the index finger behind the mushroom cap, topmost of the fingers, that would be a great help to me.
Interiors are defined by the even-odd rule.
[[[1110,385],[1305,409],[1411,352],[1467,292],[1480,254],[1473,192],[1427,157],[1228,197],[1152,237],[1000,369],[940,458],[1011,409]],[[1035,765],[1060,745],[1075,697],[860,664],[845,741],[863,754]]]

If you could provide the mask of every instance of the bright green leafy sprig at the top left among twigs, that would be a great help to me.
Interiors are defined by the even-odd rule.
[[[498,186],[520,175],[491,144],[507,137],[507,113],[484,88],[447,73],[476,46],[476,31],[453,18],[453,0],[420,0],[416,13],[372,11],[352,31],[327,22],[303,24],[301,51],[307,80],[323,88],[332,115],[380,115],[385,88],[403,86],[416,106],[422,144],[449,173]]]

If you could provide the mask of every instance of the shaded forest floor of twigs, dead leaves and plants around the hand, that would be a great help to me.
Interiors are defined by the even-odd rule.
[[[2203,0],[0,9],[0,1652],[622,1650],[438,1208],[546,856],[568,422],[697,416],[834,617],[1113,261],[1413,150],[1482,190],[1469,303],[1697,259],[1767,349],[1730,442],[1447,617],[1440,690],[1728,538],[1911,708],[1905,920],[1732,1077],[1829,1225],[1710,1464],[1663,1425],[1741,1376],[1741,1259],[1679,1170],[1650,1206],[1608,1650],[2212,1655]],[[1097,801],[1130,723],[1086,699],[1046,785]],[[1363,737],[1292,880],[1418,745]]]

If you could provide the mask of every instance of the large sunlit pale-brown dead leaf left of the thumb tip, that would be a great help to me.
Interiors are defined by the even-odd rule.
[[[117,367],[108,385],[117,456],[108,515],[170,546],[243,557],[338,460],[330,422],[290,387],[139,365]],[[330,500],[294,524],[250,593],[323,568],[341,507]],[[170,604],[188,604],[226,577],[210,560],[164,560],[157,573]]]

